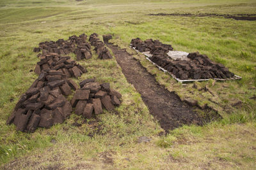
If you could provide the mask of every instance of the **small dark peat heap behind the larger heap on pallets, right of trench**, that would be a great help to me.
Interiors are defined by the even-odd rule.
[[[172,45],[163,44],[158,39],[154,41],[152,39],[147,39],[145,41],[142,41],[140,38],[134,38],[131,41],[131,46],[134,47],[139,52],[150,51],[150,53],[155,53],[155,52],[167,53],[169,50],[173,50]]]

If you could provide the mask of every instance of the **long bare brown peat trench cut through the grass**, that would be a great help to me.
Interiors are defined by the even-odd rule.
[[[154,76],[148,73],[147,69],[126,50],[111,44],[108,44],[108,47],[111,48],[116,61],[122,67],[127,81],[141,94],[143,102],[164,131],[175,129],[182,124],[202,124],[202,120],[188,104],[182,103],[177,94],[159,85]]]

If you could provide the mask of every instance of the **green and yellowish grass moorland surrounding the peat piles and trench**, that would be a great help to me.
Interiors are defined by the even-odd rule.
[[[223,17],[148,16],[148,13],[253,14],[256,1],[125,1],[125,0],[0,0],[0,168],[1,169],[255,169],[256,163],[256,22]],[[72,127],[83,118],[72,116],[51,129],[33,134],[6,125],[21,94],[37,78],[29,72],[38,58],[33,48],[41,41],[82,33],[113,34],[113,43],[127,48],[132,38],[153,38],[175,50],[200,52],[242,76],[239,81],[177,83],[139,59],[166,89],[181,99],[207,104],[223,117],[202,127],[184,125],[166,136],[140,94],[127,83],[111,60],[79,62],[88,73],[110,82],[122,93],[115,113],[104,110],[92,124]],[[72,55],[74,57],[74,55]],[[79,80],[76,80],[77,82]],[[212,94],[200,90],[207,86]],[[11,102],[13,99],[13,102]],[[234,107],[238,101],[242,104]],[[201,111],[202,112],[202,111]],[[204,114],[204,113],[203,113]],[[90,137],[92,136],[92,138]],[[138,143],[147,136],[150,143]]]

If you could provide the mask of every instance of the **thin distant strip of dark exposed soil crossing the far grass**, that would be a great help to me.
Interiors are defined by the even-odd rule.
[[[216,13],[150,13],[148,15],[153,16],[179,16],[179,17],[224,17],[224,18],[232,18],[234,20],[256,20],[256,14],[216,14]]]

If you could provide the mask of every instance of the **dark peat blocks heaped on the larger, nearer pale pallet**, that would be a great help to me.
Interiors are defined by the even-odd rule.
[[[188,58],[191,60],[172,60],[166,55],[153,55],[150,60],[174,74],[180,80],[225,79],[234,76],[234,73],[228,71],[227,67],[213,62],[207,55],[195,52],[189,53]]]

